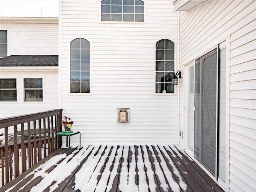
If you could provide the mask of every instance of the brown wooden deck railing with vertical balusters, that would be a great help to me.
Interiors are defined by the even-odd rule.
[[[62,130],[62,109],[0,119],[2,186],[26,171],[55,148],[54,136]],[[2,140],[3,140],[2,139]],[[57,146],[62,144],[58,139]]]

